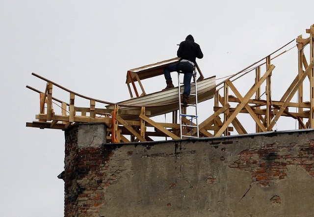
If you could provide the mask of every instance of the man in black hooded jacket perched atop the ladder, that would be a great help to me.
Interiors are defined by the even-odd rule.
[[[177,56],[180,57],[179,63],[166,66],[163,70],[163,74],[166,79],[167,86],[163,90],[167,90],[173,88],[174,85],[172,83],[172,79],[170,76],[171,72],[181,71],[184,73],[183,84],[183,100],[182,103],[184,105],[188,104],[188,96],[191,92],[191,79],[194,71],[194,64],[196,57],[201,59],[203,58],[203,53],[201,51],[200,46],[194,42],[194,38],[192,35],[188,35],[185,38],[185,41],[180,43]]]

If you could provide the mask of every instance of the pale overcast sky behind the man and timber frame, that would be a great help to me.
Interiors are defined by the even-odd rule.
[[[32,72],[119,102],[130,98],[127,70],[176,57],[188,34],[204,53],[204,76],[221,78],[308,37],[313,9],[313,0],[0,0],[0,216],[63,216],[64,183],[56,176],[64,169],[64,132],[26,128],[39,113],[39,94],[26,85],[46,85]],[[273,64],[279,100],[297,74],[297,49]],[[162,77],[149,84],[149,91],[165,87]],[[56,97],[68,101],[68,94]],[[212,113],[211,102],[202,104],[203,115]]]

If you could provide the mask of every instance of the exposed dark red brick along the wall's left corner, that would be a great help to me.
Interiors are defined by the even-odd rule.
[[[112,151],[103,146],[78,145],[79,127],[65,132],[64,216],[99,217],[104,188],[110,185],[106,164]]]

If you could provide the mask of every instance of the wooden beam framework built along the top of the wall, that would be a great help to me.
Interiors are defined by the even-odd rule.
[[[214,112],[202,123],[199,124],[199,134],[202,137],[209,136],[228,136],[235,130],[238,134],[246,134],[247,131],[238,119],[238,114],[247,113],[255,122],[255,131],[267,132],[273,131],[276,122],[280,117],[286,116],[298,121],[299,129],[314,128],[314,26],[312,25],[306,32],[309,37],[303,38],[302,35],[296,39],[298,49],[298,73],[292,81],[284,95],[278,101],[272,99],[271,76],[275,66],[271,63],[273,58],[284,54],[277,54],[282,48],[272,54],[269,54],[260,61],[250,65],[244,70],[236,73],[228,79],[216,85],[214,94]],[[304,47],[310,44],[310,54],[306,57]],[[273,56],[275,55],[276,56]],[[172,59],[174,62],[178,58]],[[169,63],[169,62],[168,62]],[[167,64],[168,64],[167,63]],[[265,65],[265,71],[262,74],[262,66]],[[165,65],[160,62],[160,70]],[[150,67],[144,66],[144,68]],[[146,79],[144,74],[135,73],[136,70],[128,71],[127,85],[132,96],[131,86],[133,86],[136,96],[145,95],[145,90],[140,83],[141,79]],[[155,71],[157,74],[162,71]],[[245,93],[240,94],[235,87],[235,81],[249,72],[255,71],[255,81],[253,86]],[[36,114],[37,121],[26,123],[27,127],[50,128],[64,130],[76,123],[104,123],[107,126],[107,141],[111,142],[143,142],[152,141],[152,137],[170,137],[180,139],[180,124],[177,123],[177,112],[173,112],[171,123],[160,123],[149,117],[150,113],[145,107],[135,107],[132,110],[123,110],[121,106],[127,105],[114,104],[102,100],[97,100],[75,93],[59,84],[45,79],[37,74],[32,74],[47,82],[46,90],[41,92],[33,87],[27,88],[40,94],[40,109]],[[203,75],[201,75],[202,77]],[[203,77],[204,78],[204,77]],[[310,99],[304,102],[303,82],[309,80]],[[138,81],[142,93],[139,95],[134,85]],[[265,99],[262,99],[262,85],[265,85]],[[69,94],[69,103],[63,102],[52,97],[52,89],[60,88]],[[298,102],[291,102],[291,99],[297,93]],[[82,108],[75,105],[75,100],[80,97],[88,101],[89,107]],[[56,114],[52,104],[58,104],[61,112]],[[113,109],[99,109],[96,104],[101,104],[102,108],[112,105]],[[297,108],[297,112],[292,112],[289,108]],[[123,115],[136,115],[136,120],[123,119]],[[183,122],[190,123],[183,118]],[[153,131],[148,131],[151,128]],[[190,134],[197,132],[189,131]],[[129,136],[129,138],[128,138]]]

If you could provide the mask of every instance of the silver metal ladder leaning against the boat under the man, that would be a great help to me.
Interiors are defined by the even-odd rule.
[[[178,89],[179,89],[179,116],[180,116],[180,136],[181,139],[183,137],[187,138],[198,138],[199,137],[199,127],[198,127],[198,115],[197,115],[197,81],[196,81],[196,70],[193,71],[193,81],[191,82],[191,93],[189,103],[193,98],[195,98],[195,104],[187,104],[183,105],[181,102],[182,91],[183,91],[183,82],[180,81],[180,77],[184,74],[182,72],[178,72]],[[182,89],[182,90],[181,90]],[[187,108],[189,108],[187,114]],[[190,111],[192,109],[192,111]],[[188,120],[189,123],[183,122],[184,120]],[[196,124],[193,123],[193,120],[196,121]],[[195,132],[196,131],[196,132]]]

